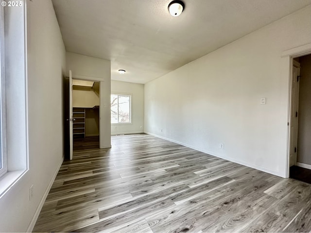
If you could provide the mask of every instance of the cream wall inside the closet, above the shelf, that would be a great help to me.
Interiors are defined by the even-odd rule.
[[[99,97],[94,91],[72,90],[72,106],[75,108],[92,108],[99,105]]]

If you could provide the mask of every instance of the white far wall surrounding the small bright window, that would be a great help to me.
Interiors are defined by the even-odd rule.
[[[143,133],[144,84],[111,80],[111,93],[132,95],[132,123],[111,124],[111,134]]]

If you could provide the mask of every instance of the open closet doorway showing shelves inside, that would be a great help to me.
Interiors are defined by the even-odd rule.
[[[73,150],[100,148],[100,83],[72,80]]]

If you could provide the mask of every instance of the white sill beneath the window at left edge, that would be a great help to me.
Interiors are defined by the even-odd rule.
[[[8,171],[0,178],[0,199],[26,172],[27,170]]]

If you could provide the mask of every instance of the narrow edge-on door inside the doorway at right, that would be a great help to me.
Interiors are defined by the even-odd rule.
[[[298,150],[299,65],[297,63],[293,66],[292,75],[290,166],[296,165]]]

